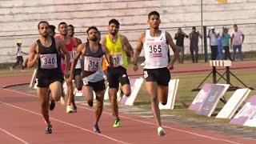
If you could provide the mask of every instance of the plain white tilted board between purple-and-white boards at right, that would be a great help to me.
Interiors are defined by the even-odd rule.
[[[232,118],[249,93],[250,89],[248,88],[235,90],[234,94],[231,96],[228,102],[226,102],[226,105],[223,106],[216,118]]]

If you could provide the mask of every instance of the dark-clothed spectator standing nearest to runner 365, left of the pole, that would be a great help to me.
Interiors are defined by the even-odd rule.
[[[175,34],[174,39],[176,39],[176,47],[178,49],[178,62],[183,63],[184,59],[184,38],[189,38],[181,28],[178,28],[178,32]],[[181,53],[181,55],[179,55]]]

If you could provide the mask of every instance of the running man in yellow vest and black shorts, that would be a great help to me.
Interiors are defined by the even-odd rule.
[[[111,19],[109,22],[108,30],[109,34],[106,34],[106,37],[102,38],[101,43],[110,51],[110,55],[114,63],[113,68],[107,68],[106,76],[110,86],[109,94],[112,112],[115,116],[113,127],[119,127],[121,126],[121,122],[120,118],[118,117],[118,87],[120,82],[122,85],[123,94],[130,96],[130,81],[126,73],[128,66],[127,57],[132,57],[134,50],[130,46],[128,39],[125,36],[118,34],[118,20]]]

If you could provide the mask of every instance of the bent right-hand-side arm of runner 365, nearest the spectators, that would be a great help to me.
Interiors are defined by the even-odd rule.
[[[170,45],[171,49],[174,51],[174,57],[168,64],[168,69],[173,70],[174,69],[174,62],[176,62],[178,58],[178,50],[174,44],[173,38],[171,38],[170,34],[166,32],[166,42],[168,45]]]

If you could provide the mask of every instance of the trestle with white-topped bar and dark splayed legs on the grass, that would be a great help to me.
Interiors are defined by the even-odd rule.
[[[213,75],[213,83],[218,83],[221,79],[224,79],[226,81],[226,84],[230,84],[229,90],[238,90],[238,86],[234,86],[230,82],[230,75],[232,75],[235,79],[238,80],[238,82],[242,83],[243,86],[250,88],[250,90],[254,90],[254,88],[246,86],[242,80],[240,80],[237,76],[235,76],[231,71],[230,71],[230,66],[232,65],[232,62],[230,60],[210,60],[210,66],[212,66],[212,71],[210,74],[206,76],[205,79],[200,82],[197,88],[193,89],[192,91],[198,91],[200,90],[200,86],[206,81],[207,78],[210,77],[210,75]],[[226,67],[226,71],[223,74],[218,73],[216,67]],[[217,79],[217,74],[219,75],[219,78]],[[226,74],[226,78],[224,75]],[[225,100],[224,100],[225,101]]]

